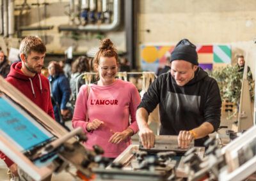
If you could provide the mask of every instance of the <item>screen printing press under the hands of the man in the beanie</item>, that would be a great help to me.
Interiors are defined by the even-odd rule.
[[[188,177],[183,159],[189,148],[180,149],[177,136],[156,136],[154,148],[145,149],[141,143],[130,145],[106,170],[93,171],[98,180],[182,180]],[[205,148],[194,148],[202,158]]]

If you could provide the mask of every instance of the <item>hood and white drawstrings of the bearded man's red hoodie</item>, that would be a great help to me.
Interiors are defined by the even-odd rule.
[[[10,73],[8,74],[7,78],[13,77],[13,78],[17,78],[19,80],[30,82],[31,91],[33,92],[33,95],[36,98],[35,88],[34,88],[33,82],[35,82],[34,84],[36,84],[37,82],[39,83],[40,92],[42,94],[42,80],[41,80],[41,77],[38,73],[36,73],[36,75],[33,76],[33,77],[26,76],[21,71],[21,67],[22,67],[22,62],[13,63],[12,66],[11,66],[11,69],[10,69]],[[37,81],[37,80],[39,80],[39,81]]]

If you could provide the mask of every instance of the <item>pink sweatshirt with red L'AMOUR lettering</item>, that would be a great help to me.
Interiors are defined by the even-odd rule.
[[[90,84],[90,93],[87,100],[87,85],[83,85],[79,91],[72,119],[73,127],[82,127],[88,140],[84,145],[92,149],[93,145],[99,145],[104,149],[104,156],[115,158],[131,144],[131,138],[118,144],[109,143],[109,138],[114,132],[122,132],[127,127],[138,132],[136,122],[136,109],[140,104],[140,94],[131,82],[116,79],[111,85],[100,86]],[[86,130],[86,113],[89,122],[99,119],[104,122],[97,130]],[[131,115],[131,123],[129,123]]]

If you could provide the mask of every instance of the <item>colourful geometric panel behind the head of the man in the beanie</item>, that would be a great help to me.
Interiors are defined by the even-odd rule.
[[[141,45],[140,60],[143,71],[154,71],[163,68],[175,46],[147,46]],[[212,69],[231,64],[230,45],[196,45],[199,66],[203,69]]]

